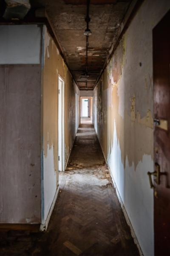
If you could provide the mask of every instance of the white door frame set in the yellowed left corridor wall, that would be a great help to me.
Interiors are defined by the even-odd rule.
[[[61,86],[60,86],[60,82],[61,82]],[[58,170],[60,172],[65,171],[64,86],[65,86],[64,79],[62,79],[62,77],[58,75],[58,146],[59,146],[59,140],[61,141],[61,144],[60,144],[61,148],[60,149],[58,148]],[[59,103],[59,97],[61,101],[60,103]],[[60,107],[62,108],[60,118],[59,118],[59,104],[60,104]],[[61,134],[59,134],[59,125],[61,125],[60,127]],[[61,162],[59,163],[59,161]]]

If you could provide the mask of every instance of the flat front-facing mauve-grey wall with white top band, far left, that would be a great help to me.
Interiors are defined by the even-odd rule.
[[[0,223],[41,222],[41,29],[0,26]]]

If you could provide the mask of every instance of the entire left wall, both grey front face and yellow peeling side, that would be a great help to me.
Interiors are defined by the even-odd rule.
[[[45,25],[0,26],[0,223],[46,229],[58,192],[58,76],[65,81],[65,163],[79,89]]]

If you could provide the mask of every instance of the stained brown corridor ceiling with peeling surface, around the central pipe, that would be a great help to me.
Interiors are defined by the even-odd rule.
[[[120,24],[131,0],[91,0],[87,87],[93,90],[116,40]],[[85,90],[86,0],[34,0],[34,7],[44,6],[58,36],[68,66],[79,86]]]

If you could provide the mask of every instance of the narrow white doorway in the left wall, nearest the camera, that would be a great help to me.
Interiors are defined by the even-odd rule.
[[[64,152],[64,80],[58,78],[58,170],[65,170]]]

